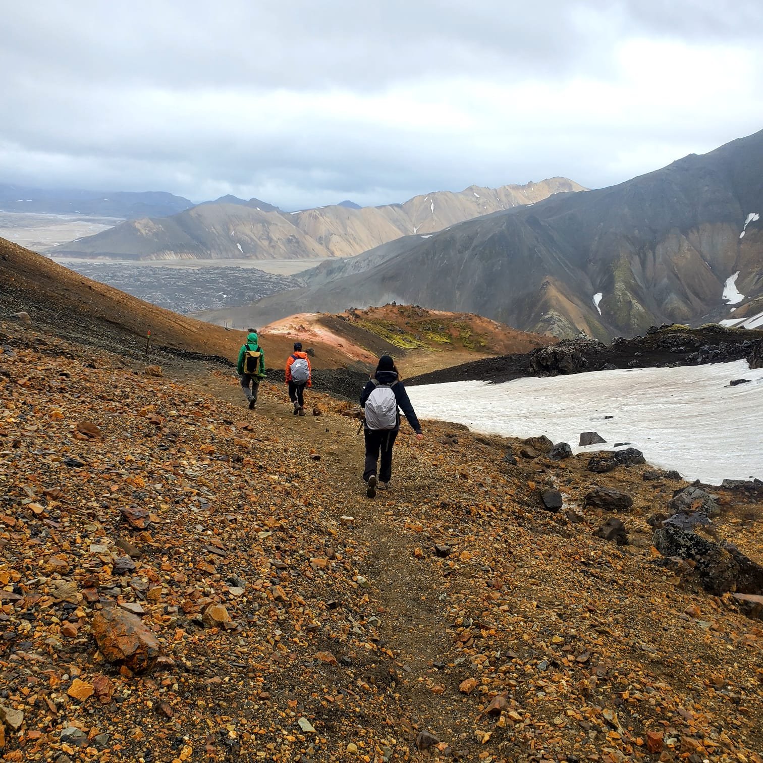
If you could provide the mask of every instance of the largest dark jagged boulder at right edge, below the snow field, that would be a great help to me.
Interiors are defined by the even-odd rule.
[[[688,559],[694,562],[694,572],[706,591],[725,594],[763,593],[763,567],[742,554],[736,546],[713,542],[666,524],[655,529],[652,536],[655,548],[668,559]]]

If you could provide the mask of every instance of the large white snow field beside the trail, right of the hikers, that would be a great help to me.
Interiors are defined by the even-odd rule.
[[[749,384],[729,387],[746,378]],[[574,452],[629,443],[687,480],[763,478],[763,369],[744,360],[678,369],[620,369],[492,385],[456,381],[408,388],[419,417],[513,437],[545,434]],[[605,418],[611,416],[612,418]],[[578,448],[581,432],[606,445]]]

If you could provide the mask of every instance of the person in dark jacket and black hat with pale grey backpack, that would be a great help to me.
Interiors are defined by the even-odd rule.
[[[365,494],[375,497],[377,482],[389,487],[392,475],[392,446],[400,431],[400,409],[413,427],[417,439],[422,439],[421,425],[408,393],[400,380],[394,360],[388,355],[379,358],[371,380],[360,395],[360,406],[365,409],[365,469],[363,479],[368,484]],[[381,451],[381,468],[376,476],[376,464]]]

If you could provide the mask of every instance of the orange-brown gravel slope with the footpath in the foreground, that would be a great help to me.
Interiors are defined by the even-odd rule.
[[[369,501],[333,398],[250,411],[230,372],[0,330],[3,760],[763,761],[763,624],[650,547],[683,483],[425,422]],[[594,485],[633,495],[629,545],[592,537]],[[760,562],[760,501],[719,494]],[[153,670],[98,648],[112,607]]]

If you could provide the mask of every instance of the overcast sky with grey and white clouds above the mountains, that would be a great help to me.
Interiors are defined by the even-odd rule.
[[[761,0],[6,3],[0,182],[296,209],[566,175],[763,128]]]

